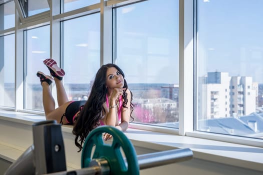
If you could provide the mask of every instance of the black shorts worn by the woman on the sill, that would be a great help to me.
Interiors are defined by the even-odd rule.
[[[68,105],[68,107],[66,108],[66,112],[63,114],[63,116],[66,117],[69,124],[73,124],[73,119],[75,118],[75,115],[80,110],[80,107],[83,106],[85,103],[86,100],[80,100],[80,101],[73,101]],[[61,122],[63,116],[61,117]]]

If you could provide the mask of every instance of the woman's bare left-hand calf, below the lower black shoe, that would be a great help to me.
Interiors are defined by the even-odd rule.
[[[55,100],[52,96],[50,85],[47,82],[42,82],[42,95],[43,95],[43,106],[45,115],[47,116],[50,112],[55,110]]]

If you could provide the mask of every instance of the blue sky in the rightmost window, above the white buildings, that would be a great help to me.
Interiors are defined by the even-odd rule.
[[[263,1],[198,1],[199,73],[225,71],[263,83]]]

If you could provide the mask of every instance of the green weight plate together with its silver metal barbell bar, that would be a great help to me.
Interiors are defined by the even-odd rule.
[[[103,133],[112,135],[112,144],[104,142]],[[126,158],[123,158],[123,153]],[[82,150],[81,169],[54,172],[49,173],[49,175],[138,175],[140,169],[186,161],[191,159],[192,156],[193,152],[189,148],[136,155],[131,141],[122,131],[113,126],[99,126],[93,129],[85,140]]]

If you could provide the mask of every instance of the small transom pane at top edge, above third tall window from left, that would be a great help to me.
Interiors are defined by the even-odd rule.
[[[100,0],[64,0],[64,12],[100,3]]]

